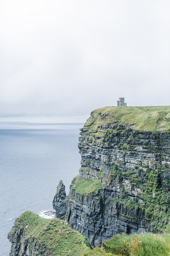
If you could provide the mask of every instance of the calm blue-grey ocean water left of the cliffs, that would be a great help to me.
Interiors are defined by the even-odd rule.
[[[7,234],[26,210],[53,210],[60,180],[69,192],[79,174],[83,124],[0,123],[0,255],[10,253]]]

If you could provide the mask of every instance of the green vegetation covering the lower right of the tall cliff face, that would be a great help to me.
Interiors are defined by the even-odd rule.
[[[123,199],[120,198],[108,198],[109,200],[116,203],[122,203],[123,207],[127,208],[127,216],[130,218],[134,218],[130,216],[130,211],[132,209],[139,210],[141,209],[145,215],[145,221],[149,223],[151,230],[159,230],[164,231],[167,226],[167,223],[170,219],[170,193],[169,191],[165,191],[160,182],[161,179],[161,168],[157,167],[154,169],[153,167],[145,167],[145,176],[144,178],[134,174],[134,172],[122,172],[118,167],[112,167],[114,170],[110,170],[112,172],[110,174],[110,179],[118,178],[120,181],[128,177],[129,182],[133,188],[140,189],[141,193],[139,197],[143,199],[144,204],[139,204],[138,202],[133,201],[128,198],[128,193],[124,190],[120,182],[121,187],[121,195]],[[142,171],[141,166],[138,167],[140,171]],[[165,186],[167,188],[170,187],[170,180],[166,180]]]

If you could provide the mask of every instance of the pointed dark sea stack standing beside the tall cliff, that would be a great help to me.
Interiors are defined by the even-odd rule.
[[[66,215],[66,191],[62,181],[59,182],[57,192],[53,199],[53,208],[56,210],[56,217],[64,219]]]

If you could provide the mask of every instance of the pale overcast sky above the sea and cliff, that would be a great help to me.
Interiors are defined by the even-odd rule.
[[[0,121],[170,105],[169,13],[169,0],[1,0]]]

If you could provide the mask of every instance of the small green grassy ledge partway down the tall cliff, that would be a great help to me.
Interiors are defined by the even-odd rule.
[[[92,192],[98,191],[102,188],[100,181],[91,179],[78,179],[78,176],[72,182],[72,189],[80,195],[89,195]]]

